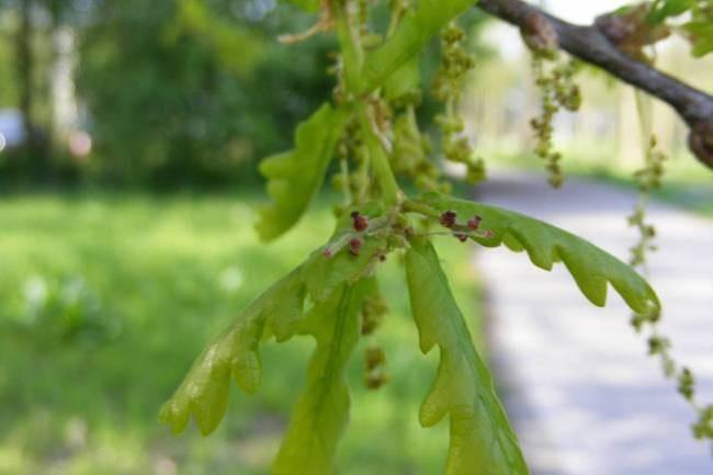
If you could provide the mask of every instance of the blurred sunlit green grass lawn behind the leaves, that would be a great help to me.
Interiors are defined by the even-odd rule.
[[[262,246],[253,202],[250,194],[0,199],[0,475],[268,473],[310,341],[268,344],[262,389],[247,397],[234,386],[210,438],[194,427],[173,438],[157,423],[208,339],[330,233],[325,204]],[[451,239],[440,248],[480,340],[471,250]],[[392,312],[375,337],[392,381],[364,389],[360,349],[341,475],[430,475],[445,460],[448,427],[422,430],[417,421],[437,352],[417,350],[397,261],[382,272]]]

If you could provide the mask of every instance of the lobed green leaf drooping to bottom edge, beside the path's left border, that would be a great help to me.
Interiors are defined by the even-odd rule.
[[[445,475],[527,475],[517,436],[476,352],[435,250],[414,241],[406,255],[411,312],[421,351],[439,347],[441,361],[420,421],[432,427],[450,415],[451,446]]]

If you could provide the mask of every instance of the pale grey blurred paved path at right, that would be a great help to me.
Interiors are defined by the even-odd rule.
[[[479,197],[546,219],[627,258],[632,193],[592,182],[558,192],[544,178],[512,176]],[[666,308],[676,354],[713,400],[713,220],[657,204],[660,251],[652,283]],[[494,323],[498,374],[513,386],[509,406],[533,475],[711,475],[710,445],[692,440],[693,416],[629,312],[610,289],[606,309],[590,306],[564,267],[546,273],[525,255],[480,252]]]

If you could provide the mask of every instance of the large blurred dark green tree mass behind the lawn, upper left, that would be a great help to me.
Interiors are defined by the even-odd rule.
[[[161,186],[253,180],[251,161],[286,148],[330,89],[330,44],[299,45],[295,64],[274,38],[306,19],[271,10],[264,1],[95,2],[78,75],[95,176]]]

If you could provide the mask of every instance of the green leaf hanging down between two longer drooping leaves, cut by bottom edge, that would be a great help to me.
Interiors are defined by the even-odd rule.
[[[330,475],[337,443],[349,420],[344,371],[359,340],[363,290],[342,285],[303,320],[301,335],[317,348],[309,363],[307,387],[294,409],[273,466],[275,475]]]

